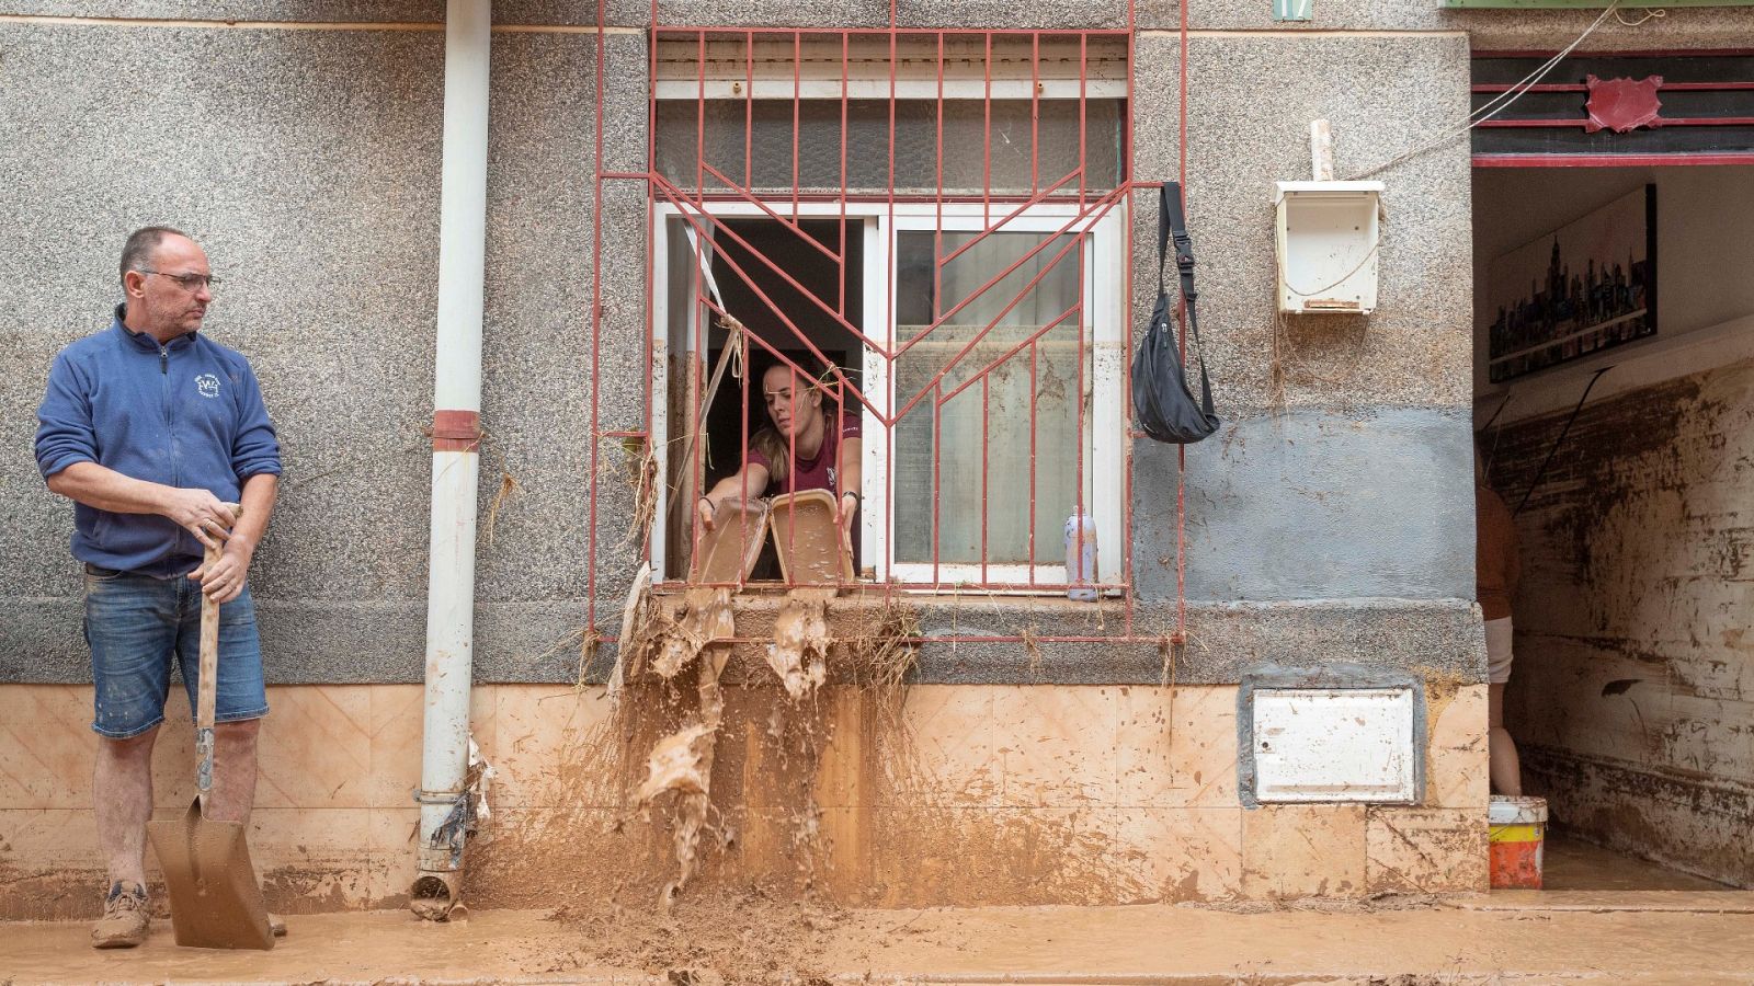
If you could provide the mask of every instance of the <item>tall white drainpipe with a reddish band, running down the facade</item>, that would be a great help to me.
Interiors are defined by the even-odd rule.
[[[433,358],[433,505],[426,588],[426,732],[419,877],[409,907],[461,919],[470,825],[468,693],[475,632],[475,481],[481,474],[481,311],[488,237],[491,0],[447,0],[438,333]]]

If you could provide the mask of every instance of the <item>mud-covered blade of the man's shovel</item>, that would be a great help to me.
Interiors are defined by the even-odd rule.
[[[268,905],[249,861],[244,823],[214,821],[195,798],[179,819],[146,826],[170,891],[177,944],[198,949],[272,949]]]

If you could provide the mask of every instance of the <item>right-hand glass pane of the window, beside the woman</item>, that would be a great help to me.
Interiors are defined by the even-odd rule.
[[[947,232],[942,233],[938,249],[949,254],[975,237],[972,232]],[[949,395],[963,382],[975,382],[942,407],[935,407],[935,395],[928,395],[896,423],[895,560],[898,563],[933,560],[933,500],[937,500],[937,523],[942,528],[937,546],[940,563],[982,560],[982,518],[986,518],[988,563],[1059,563],[1065,558],[1061,528],[1073,511],[1079,449],[1084,444],[1079,439],[1079,404],[1082,397],[1087,409],[1089,347],[1084,347],[1086,365],[1080,377],[1080,318],[1073,312],[1037,340],[1031,381],[1031,351],[1023,342],[1061,312],[1079,305],[1082,249],[1073,246],[1035,288],[1024,293],[1024,286],[1075,237],[991,233],[945,265],[937,284],[931,274],[933,239],[930,232],[907,232],[898,237],[898,340],[924,332],[931,323],[933,305],[942,314],[965,298],[973,300],[896,360],[896,407],[926,388],[935,388],[935,395]],[[1052,242],[980,291],[982,284],[1044,240]],[[1017,305],[1000,318],[1005,305],[1019,295],[1023,297]],[[996,326],[982,335],[993,319],[998,319]],[[963,354],[975,339],[979,342]],[[979,382],[982,370],[986,370],[984,393]],[[1031,430],[1035,433],[1033,518],[1030,514]],[[984,479],[982,446],[986,446]],[[937,477],[933,447],[940,451]]]

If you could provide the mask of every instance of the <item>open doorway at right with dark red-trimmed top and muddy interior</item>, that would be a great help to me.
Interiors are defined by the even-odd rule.
[[[1475,102],[1528,58],[1477,56]],[[1754,888],[1754,54],[1577,56],[1545,82],[1473,146],[1508,775],[1547,800],[1549,890]],[[1665,126],[1586,126],[1608,82]]]

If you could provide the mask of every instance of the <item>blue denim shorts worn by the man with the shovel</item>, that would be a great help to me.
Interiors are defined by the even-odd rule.
[[[202,654],[200,582],[86,567],[86,642],[96,684],[91,728],[98,735],[128,739],[163,723],[174,660],[182,667],[193,714]],[[268,714],[256,605],[247,586],[219,607],[217,686],[214,721]]]

